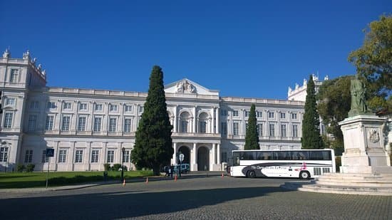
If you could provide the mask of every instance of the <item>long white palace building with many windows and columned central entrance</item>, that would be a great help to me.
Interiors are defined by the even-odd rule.
[[[0,58],[0,170],[35,164],[35,170],[135,169],[130,154],[147,93],[46,86],[46,71],[29,51]],[[217,85],[219,86],[219,85]],[[304,101],[221,97],[183,78],[165,85],[173,125],[172,147],[191,171],[222,170],[232,150],[242,150],[250,106],[256,105],[261,149],[301,148]],[[54,157],[46,157],[46,148]],[[124,151],[123,151],[124,149]]]

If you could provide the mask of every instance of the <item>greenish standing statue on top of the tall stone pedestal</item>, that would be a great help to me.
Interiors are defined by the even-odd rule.
[[[365,85],[359,80],[358,74],[355,75],[355,79],[351,80],[350,92],[351,92],[351,110],[349,111],[349,117],[356,115],[368,115],[368,107],[365,101]]]

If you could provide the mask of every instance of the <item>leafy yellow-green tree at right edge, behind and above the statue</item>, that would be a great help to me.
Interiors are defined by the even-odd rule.
[[[349,62],[366,79],[368,108],[392,112],[392,16],[381,16],[363,32],[365,41],[349,54]]]

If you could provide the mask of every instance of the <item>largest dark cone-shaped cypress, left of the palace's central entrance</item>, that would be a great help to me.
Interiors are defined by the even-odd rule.
[[[155,175],[160,173],[161,164],[170,162],[174,152],[172,125],[166,107],[163,71],[159,66],[154,66],[131,159],[139,169],[152,168]]]

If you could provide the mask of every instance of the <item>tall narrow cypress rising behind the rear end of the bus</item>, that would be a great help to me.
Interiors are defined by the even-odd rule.
[[[319,113],[317,112],[316,91],[314,89],[313,75],[309,76],[309,82],[306,88],[301,144],[304,149],[324,148],[324,142],[320,135],[320,120]]]

